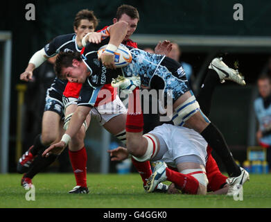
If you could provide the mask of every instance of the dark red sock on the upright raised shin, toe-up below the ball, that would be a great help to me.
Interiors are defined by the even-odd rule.
[[[144,126],[138,89],[139,87],[135,88],[132,94],[129,95],[126,131],[130,133],[139,133],[143,131]]]

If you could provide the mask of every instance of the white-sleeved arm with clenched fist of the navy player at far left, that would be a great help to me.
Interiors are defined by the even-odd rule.
[[[33,76],[33,70],[40,65],[44,61],[46,61],[49,57],[46,56],[46,53],[44,51],[44,48],[42,48],[40,51],[37,51],[29,60],[28,66],[26,67],[26,70],[20,75],[20,80],[24,80],[28,82],[29,80],[32,80]]]

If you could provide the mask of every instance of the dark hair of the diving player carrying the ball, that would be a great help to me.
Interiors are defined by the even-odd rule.
[[[60,52],[55,59],[55,75],[60,79],[66,79],[62,74],[63,67],[72,67],[73,60],[76,59],[78,61],[82,61],[80,53],[67,51],[67,52]]]

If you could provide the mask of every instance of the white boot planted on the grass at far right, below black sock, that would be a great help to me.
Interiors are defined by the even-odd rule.
[[[241,174],[240,176],[227,178],[227,184],[229,185],[229,189],[227,191],[227,196],[234,196],[236,192],[238,192],[238,189],[241,189],[243,184],[250,180],[250,173],[248,173],[245,169],[240,167]]]

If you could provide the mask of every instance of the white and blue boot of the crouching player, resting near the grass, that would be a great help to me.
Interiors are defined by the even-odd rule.
[[[159,185],[160,182],[163,182],[166,179],[167,179],[166,164],[164,162],[158,162],[155,165],[154,172],[152,173],[150,178],[148,178],[148,181],[147,181],[148,193],[154,191],[157,185]]]

